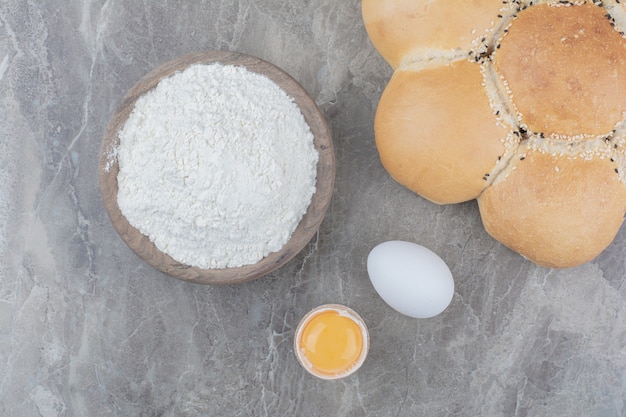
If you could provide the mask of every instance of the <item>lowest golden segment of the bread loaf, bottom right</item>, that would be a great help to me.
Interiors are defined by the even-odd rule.
[[[595,258],[613,240],[626,209],[626,186],[610,159],[525,150],[506,178],[478,198],[487,232],[546,267]]]

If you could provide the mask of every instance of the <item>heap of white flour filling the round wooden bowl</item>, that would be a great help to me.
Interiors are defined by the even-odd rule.
[[[194,65],[161,81],[119,138],[122,214],[186,265],[238,267],[281,249],[315,192],[300,110],[242,67]]]

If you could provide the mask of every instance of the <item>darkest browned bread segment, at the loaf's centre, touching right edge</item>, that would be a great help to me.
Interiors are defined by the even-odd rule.
[[[546,135],[602,135],[626,108],[626,47],[592,4],[537,5],[500,41],[494,67],[508,82],[528,129]]]

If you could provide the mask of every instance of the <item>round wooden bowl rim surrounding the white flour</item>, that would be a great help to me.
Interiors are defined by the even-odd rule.
[[[238,268],[202,269],[177,262],[157,249],[148,237],[131,226],[117,205],[119,166],[117,160],[111,155],[119,145],[118,132],[126,123],[135,102],[143,94],[154,88],[161,79],[198,63],[243,66],[249,71],[268,77],[293,98],[299,106],[313,133],[315,149],[319,153],[316,191],[306,214],[293,232],[291,239],[281,250],[270,253],[252,265]],[[234,284],[259,278],[281,267],[298,254],[317,233],[320,223],[326,215],[333,192],[335,157],[332,137],[324,116],[297,81],[281,69],[261,59],[235,52],[207,51],[186,55],[158,67],[144,76],[126,94],[122,104],[109,122],[100,149],[98,170],[104,207],[109,218],[122,240],[140,258],[159,271],[181,280],[199,284]]]

